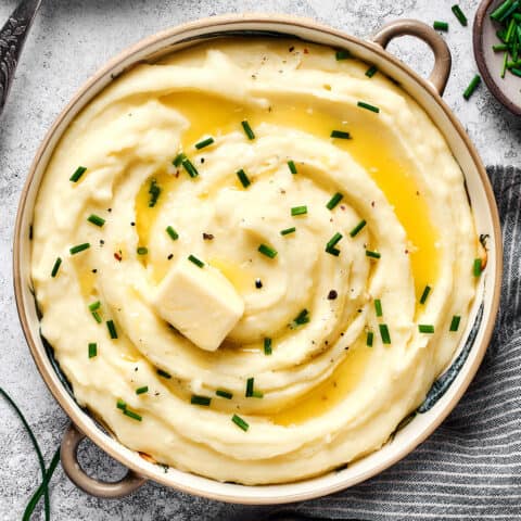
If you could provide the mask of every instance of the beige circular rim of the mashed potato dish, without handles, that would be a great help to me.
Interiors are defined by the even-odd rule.
[[[281,30],[287,30],[288,34],[291,34],[291,30],[297,28],[301,30],[312,30],[315,31],[317,35],[326,35],[328,37],[338,38],[345,43],[354,43],[364,48],[366,51],[378,55],[381,60],[390,62],[392,65],[398,67],[405,75],[411,78],[419,88],[427,91],[431,96],[431,98],[435,101],[436,105],[442,109],[444,115],[449,120],[452,127],[457,131],[461,141],[465,143],[465,147],[471,157],[472,164],[475,167],[475,170],[479,174],[481,185],[484,190],[484,194],[486,196],[487,208],[490,211],[490,216],[492,219],[493,230],[494,230],[494,251],[495,251],[495,266],[496,271],[494,272],[494,290],[492,295],[492,304],[491,310],[487,317],[485,317],[484,321],[486,322],[485,327],[483,328],[483,338],[481,344],[478,346],[478,353],[473,359],[472,365],[467,369],[465,373],[465,378],[459,382],[456,392],[454,393],[453,398],[449,403],[447,403],[443,409],[440,409],[436,416],[433,417],[431,422],[429,423],[428,428],[424,429],[419,435],[411,437],[407,442],[404,448],[397,450],[392,457],[386,459],[383,462],[379,462],[371,467],[371,469],[361,472],[356,478],[346,479],[336,484],[329,484],[321,487],[315,487],[308,492],[302,493],[294,493],[294,494],[279,494],[277,495],[274,493],[270,497],[255,497],[252,494],[242,494],[242,495],[233,495],[226,492],[226,483],[219,483],[223,485],[223,492],[216,493],[215,491],[207,491],[202,488],[196,488],[192,486],[187,486],[186,484],[179,484],[178,482],[173,483],[173,479],[165,479],[163,474],[154,473],[150,471],[145,467],[145,461],[143,460],[139,465],[128,457],[125,454],[125,450],[129,450],[125,447],[120,442],[114,440],[115,445],[112,446],[105,439],[105,434],[92,422],[91,418],[86,415],[79,408],[74,408],[68,403],[68,395],[66,390],[62,384],[56,384],[53,381],[51,371],[48,370],[46,367],[46,359],[48,357],[47,353],[41,350],[33,339],[33,330],[30,326],[29,318],[27,316],[27,308],[24,303],[23,297],[23,278],[22,278],[22,262],[21,262],[21,250],[22,250],[22,241],[23,241],[23,230],[22,230],[22,223],[24,216],[27,212],[33,211],[33,207],[28,207],[27,205],[27,198],[31,185],[34,182],[35,175],[38,170],[38,166],[42,156],[47,149],[52,144],[52,139],[55,132],[59,130],[62,122],[67,117],[69,112],[72,112],[78,102],[81,101],[81,98],[87,94],[90,90],[92,90],[98,82],[103,81],[103,79],[114,71],[116,66],[118,66],[122,62],[131,59],[134,55],[139,53],[140,51],[157,43],[158,41],[164,41],[164,48],[166,49],[168,45],[168,40],[176,39],[179,41],[182,39],[182,35],[193,31],[193,30],[202,30],[201,39],[204,36],[209,36],[212,30],[215,30],[216,27],[220,27],[220,30],[224,31],[232,31],[233,28],[237,29],[237,26],[241,24],[249,24],[254,25],[255,28],[252,30],[262,31],[263,27],[267,25],[277,25]],[[226,28],[224,28],[226,26]],[[250,30],[250,29],[249,29]],[[305,39],[304,39],[305,40]],[[309,40],[310,41],[310,40]],[[136,63],[136,61],[134,62]],[[90,97],[88,101],[91,101],[93,97]],[[81,106],[87,104],[86,101]],[[422,106],[421,103],[419,103]],[[65,130],[65,128],[63,129]],[[55,144],[54,144],[55,147]],[[332,494],[334,492],[339,492],[341,490],[353,486],[357,483],[360,483],[373,475],[382,472],[383,470],[387,469],[392,465],[396,463],[409,453],[411,453],[419,444],[421,444],[427,437],[429,437],[432,432],[445,420],[448,414],[454,409],[456,404],[461,398],[462,394],[469,386],[470,382],[475,376],[478,368],[481,365],[483,356],[485,354],[486,347],[488,346],[494,326],[495,319],[497,316],[498,307],[499,307],[499,297],[500,297],[500,283],[501,283],[501,274],[503,274],[503,241],[501,241],[501,231],[500,231],[500,224],[499,224],[499,215],[497,211],[497,205],[495,202],[494,193],[492,190],[491,181],[486,175],[486,170],[479,157],[479,154],[470,141],[469,137],[467,136],[462,125],[458,122],[456,116],[453,114],[452,110],[448,105],[442,100],[441,96],[436,92],[436,90],[432,87],[431,84],[428,82],[427,79],[420,77],[415,71],[409,68],[405,63],[401,62],[397,58],[393,56],[391,53],[385,51],[382,47],[378,46],[377,43],[370,40],[364,40],[361,38],[352,36],[346,34],[342,30],[334,29],[332,27],[326,26],[323,24],[317,23],[312,18],[298,17],[293,15],[279,15],[279,14],[257,14],[257,13],[250,13],[250,14],[229,14],[229,15],[219,15],[219,16],[212,16],[206,18],[201,18],[194,22],[189,22],[186,24],[181,24],[175,27],[167,28],[165,30],[158,31],[154,35],[151,35],[139,42],[128,47],[127,49],[123,50],[118,53],[115,58],[111,59],[103,65],[98,72],[94,73],[82,86],[76,91],[73,96],[71,101],[65,105],[65,107],[60,112],[59,116],[53,122],[52,126],[47,131],[40,147],[38,148],[35,158],[31,163],[30,170],[28,173],[27,179],[24,183],[20,202],[18,202],[18,209],[16,214],[16,221],[15,221],[15,229],[14,229],[14,242],[13,242],[13,282],[14,282],[14,292],[15,292],[15,301],[16,301],[16,308],[18,313],[18,318],[22,325],[22,329],[24,332],[24,336],[26,342],[29,346],[30,353],[33,358],[38,367],[38,370],[45,380],[48,389],[51,391],[52,395],[68,416],[68,418],[73,421],[75,425],[78,425],[80,429],[93,443],[96,443],[102,450],[109,454],[111,457],[123,463],[128,469],[131,469],[136,473],[147,476],[155,482],[158,482],[163,485],[169,486],[170,488],[182,491],[189,494],[193,494],[196,496],[202,496],[211,499],[217,499],[227,503],[237,503],[242,505],[262,505],[262,504],[283,504],[283,503],[292,503],[304,499],[312,499],[316,497],[321,497],[328,494]],[[473,346],[473,350],[476,350],[476,346]],[[320,476],[317,476],[320,478]],[[305,482],[312,482],[317,478],[309,478],[304,480]],[[269,485],[274,490],[278,488],[279,486],[284,486],[285,484],[280,485]],[[254,486],[244,485],[242,490],[247,491],[250,488],[255,488]]]

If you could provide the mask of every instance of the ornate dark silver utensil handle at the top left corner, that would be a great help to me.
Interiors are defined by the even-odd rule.
[[[0,113],[13,82],[14,71],[41,0],[22,0],[0,30]]]

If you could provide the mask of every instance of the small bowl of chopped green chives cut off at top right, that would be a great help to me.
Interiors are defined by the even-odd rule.
[[[475,14],[473,47],[490,91],[521,116],[521,1],[484,0]]]

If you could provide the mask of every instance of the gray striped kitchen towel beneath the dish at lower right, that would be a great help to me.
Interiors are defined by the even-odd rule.
[[[236,507],[229,520],[521,520],[521,169],[488,167],[503,225],[498,321],[447,420],[378,476],[312,501]]]

